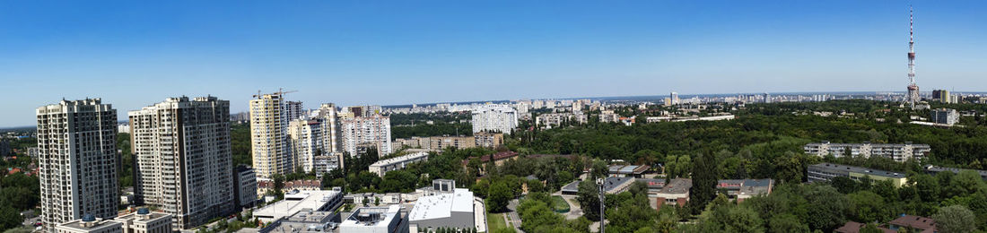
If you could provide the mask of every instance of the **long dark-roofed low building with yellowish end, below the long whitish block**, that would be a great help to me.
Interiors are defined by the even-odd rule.
[[[860,181],[865,177],[869,177],[871,180],[877,182],[890,181],[894,187],[900,188],[908,182],[905,174],[901,173],[831,163],[809,165],[806,173],[808,173],[809,183],[829,182],[836,177],[845,177],[854,181]]]

